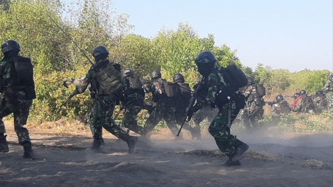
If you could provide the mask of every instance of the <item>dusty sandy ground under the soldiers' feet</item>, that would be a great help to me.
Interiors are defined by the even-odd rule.
[[[89,133],[31,130],[35,159],[25,159],[9,130],[10,152],[0,152],[0,186],[332,186],[333,134],[290,134],[276,129],[236,134],[250,145],[240,166],[222,167],[227,157],[214,139],[172,139],[168,129],[127,144],[105,135],[104,153],[86,153]]]

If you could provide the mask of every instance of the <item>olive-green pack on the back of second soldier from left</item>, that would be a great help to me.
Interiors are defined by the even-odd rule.
[[[100,95],[113,95],[123,88],[121,72],[115,68],[114,62],[109,62],[107,67],[97,72],[95,78],[99,85],[97,90]]]

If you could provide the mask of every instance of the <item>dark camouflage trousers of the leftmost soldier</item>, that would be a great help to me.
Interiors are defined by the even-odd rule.
[[[18,92],[17,94],[22,94],[22,97],[25,97],[24,92]],[[6,133],[3,118],[13,113],[14,129],[18,135],[19,143],[21,145],[26,144],[27,142],[31,143],[29,131],[26,127],[24,127],[24,125],[27,124],[30,107],[32,104],[32,99],[16,99],[14,102],[5,101],[5,99],[2,99],[0,106],[0,133]]]

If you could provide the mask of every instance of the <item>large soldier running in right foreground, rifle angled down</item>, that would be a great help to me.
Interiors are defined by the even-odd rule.
[[[193,107],[191,112],[216,103],[220,110],[209,125],[208,131],[215,138],[218,148],[229,157],[229,160],[222,165],[240,165],[239,158],[249,146],[231,135],[230,126],[228,126],[228,111],[231,111],[230,122],[232,123],[239,112],[239,102],[236,99],[236,93],[228,90],[231,87],[231,83],[225,82],[224,77],[222,77],[223,73],[215,68],[215,62],[216,58],[210,51],[201,52],[195,58],[198,70],[204,77],[201,83],[202,91],[199,93],[200,97],[203,99]],[[226,97],[228,92],[231,92],[231,95]]]

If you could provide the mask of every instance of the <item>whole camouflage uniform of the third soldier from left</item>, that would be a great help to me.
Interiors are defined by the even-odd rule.
[[[130,130],[143,135],[147,131],[144,127],[138,125],[136,120],[138,113],[144,107],[144,90],[134,91],[130,87],[129,80],[124,78],[124,105],[125,116],[123,118],[123,125]]]

